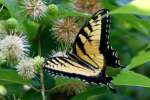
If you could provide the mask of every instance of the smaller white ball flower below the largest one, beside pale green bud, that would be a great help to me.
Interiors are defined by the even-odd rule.
[[[33,59],[24,58],[16,66],[17,72],[24,79],[32,79],[35,77],[35,68],[33,64]]]

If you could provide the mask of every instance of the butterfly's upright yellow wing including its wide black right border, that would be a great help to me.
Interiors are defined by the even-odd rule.
[[[81,28],[73,45],[73,54],[99,71],[105,65],[119,66],[116,52],[109,43],[109,24],[108,10],[99,10]]]

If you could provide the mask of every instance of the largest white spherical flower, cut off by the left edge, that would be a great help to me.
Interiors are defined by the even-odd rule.
[[[25,36],[7,35],[0,41],[0,52],[6,60],[12,62],[21,59],[28,53],[28,42]]]

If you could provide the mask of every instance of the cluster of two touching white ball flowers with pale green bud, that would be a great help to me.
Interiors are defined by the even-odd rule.
[[[8,35],[9,34],[9,35]],[[29,44],[26,36],[17,32],[5,34],[0,40],[0,64],[5,62],[16,65],[19,75],[24,79],[35,77],[37,67],[41,67],[44,58],[29,58]]]

